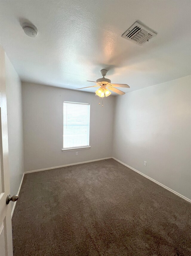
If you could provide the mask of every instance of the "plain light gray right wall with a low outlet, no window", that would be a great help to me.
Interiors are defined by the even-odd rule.
[[[114,124],[116,159],[191,199],[191,76],[118,96]]]

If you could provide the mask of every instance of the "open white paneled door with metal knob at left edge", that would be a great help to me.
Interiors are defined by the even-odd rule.
[[[9,151],[7,133],[7,100],[5,85],[5,53],[0,45],[0,255],[13,255],[10,194]]]

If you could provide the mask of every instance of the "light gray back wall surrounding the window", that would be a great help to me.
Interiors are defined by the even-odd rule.
[[[22,84],[25,171],[112,156],[114,96]],[[90,149],[63,152],[63,102],[90,103]]]

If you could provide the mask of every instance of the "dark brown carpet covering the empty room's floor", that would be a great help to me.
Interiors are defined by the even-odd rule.
[[[14,256],[191,255],[191,204],[113,159],[24,175]]]

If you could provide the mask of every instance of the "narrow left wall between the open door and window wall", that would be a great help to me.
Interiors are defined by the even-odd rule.
[[[5,54],[7,126],[9,145],[10,193],[17,194],[24,173],[22,88],[13,65]],[[13,204],[12,204],[13,207]]]

